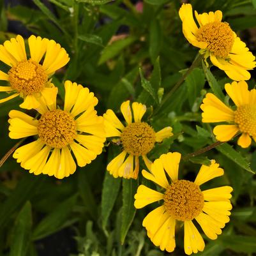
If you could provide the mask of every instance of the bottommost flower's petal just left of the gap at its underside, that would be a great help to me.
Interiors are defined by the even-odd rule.
[[[160,246],[160,250],[167,250],[167,252],[173,252],[176,247],[175,243],[175,223],[174,218],[167,218],[162,226],[156,231],[154,236],[151,237],[151,241],[156,246]]]

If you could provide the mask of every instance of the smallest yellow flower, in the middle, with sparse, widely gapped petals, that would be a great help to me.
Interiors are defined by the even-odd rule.
[[[147,153],[153,149],[155,142],[162,142],[163,139],[173,135],[171,127],[165,127],[159,132],[154,132],[154,129],[149,124],[142,122],[141,119],[146,109],[146,105],[133,102],[134,122],[132,123],[130,100],[123,102],[121,112],[126,121],[126,126],[119,121],[116,114],[110,109],[103,115],[106,137],[119,137],[120,139],[114,141],[117,144],[121,143],[123,146],[123,151],[107,165],[107,170],[114,177],[137,179],[139,156],[142,156],[147,168],[150,168],[151,161],[147,158]],[[128,157],[126,158],[127,154]],[[124,160],[125,158],[126,160]],[[133,162],[135,162],[134,168]]]

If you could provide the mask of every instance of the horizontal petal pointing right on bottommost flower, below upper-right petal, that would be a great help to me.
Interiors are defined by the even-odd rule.
[[[220,186],[218,188],[204,190],[202,194],[204,195],[204,200],[206,201],[224,201],[232,197],[232,191],[233,188],[231,188],[231,186]]]

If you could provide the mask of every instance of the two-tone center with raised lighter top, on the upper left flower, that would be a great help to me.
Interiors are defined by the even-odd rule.
[[[8,75],[11,87],[24,96],[40,92],[48,80],[43,67],[31,59],[20,61],[9,70]]]

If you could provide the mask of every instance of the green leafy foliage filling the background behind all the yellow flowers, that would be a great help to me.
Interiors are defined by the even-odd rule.
[[[224,85],[231,80],[211,66],[209,59],[189,70],[199,49],[184,38],[178,14],[180,1],[144,0],[142,12],[130,0],[33,0],[33,6],[4,6],[4,1],[0,2],[1,43],[15,37],[8,25],[17,22],[17,27],[55,40],[68,52],[69,63],[52,79],[59,89],[59,106],[64,102],[65,80],[93,91],[99,100],[99,115],[112,109],[124,121],[121,103],[144,103],[147,112],[143,121],[156,132],[171,126],[174,133],[155,144],[147,154],[150,160],[178,151],[183,155],[179,178],[192,181],[202,164],[209,165],[212,159],[220,163],[225,175],[204,187],[232,186],[232,215],[218,239],[204,237],[206,248],[198,255],[255,255],[256,144],[242,149],[237,146],[237,136],[209,151],[202,150],[216,142],[215,125],[202,123],[202,100],[206,93],[213,93],[228,103]],[[199,13],[222,10],[223,20],[255,55],[256,1],[190,3]],[[0,70],[8,72],[3,63]],[[183,81],[186,72],[189,74]],[[255,87],[253,73],[248,84],[250,89]],[[5,95],[0,93],[0,98]],[[21,102],[15,98],[0,105],[0,158],[18,142],[8,137],[7,120],[8,112],[19,110]],[[33,110],[26,113],[34,114]],[[96,160],[63,180],[29,174],[10,154],[0,167],[0,255],[37,256],[40,248],[48,255],[46,241],[54,241],[54,237],[57,242],[52,243],[58,247],[66,236],[66,248],[74,241],[75,248],[61,252],[61,256],[166,255],[151,243],[142,227],[153,207],[138,211],[134,207],[139,184],[155,188],[141,175],[141,170],[147,169],[142,159],[137,180],[114,178],[107,171],[107,164],[121,149],[107,140]],[[192,156],[195,152],[199,154]],[[177,227],[173,255],[184,255],[182,229]],[[58,255],[55,248],[50,250]]]

